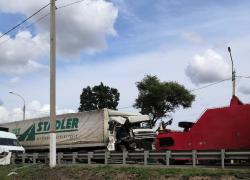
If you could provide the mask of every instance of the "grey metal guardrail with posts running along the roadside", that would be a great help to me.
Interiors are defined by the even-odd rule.
[[[221,168],[225,168],[225,159],[250,159],[250,149],[241,150],[180,150],[180,151],[112,151],[112,152],[71,152],[57,153],[57,164],[62,164],[64,160],[71,160],[72,164],[77,164],[76,159],[85,160],[88,165],[91,165],[91,160],[104,160],[104,164],[108,164],[109,159],[122,160],[123,165],[128,160],[144,160],[144,165],[147,166],[148,159],[165,159],[166,167],[169,168],[170,159],[189,159],[192,160],[193,168],[196,167],[199,159],[216,159],[221,161]],[[48,163],[49,153],[24,153],[12,154],[11,163],[21,161],[25,164],[31,160],[36,163],[38,160]]]

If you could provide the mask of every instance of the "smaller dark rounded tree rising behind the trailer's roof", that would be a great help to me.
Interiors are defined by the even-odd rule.
[[[89,86],[83,88],[78,111],[82,112],[103,108],[116,109],[119,100],[120,93],[118,90],[104,86],[101,82],[99,86],[94,86],[92,89]]]

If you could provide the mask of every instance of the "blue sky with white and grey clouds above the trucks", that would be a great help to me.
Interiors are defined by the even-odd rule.
[[[228,79],[229,46],[236,76],[242,76],[236,78],[236,96],[250,102],[250,78],[245,78],[250,76],[250,1],[84,0],[70,5],[74,2],[56,1],[57,114],[78,112],[82,89],[101,82],[120,92],[119,110],[138,112],[132,107],[135,83],[147,74],[190,91]],[[0,0],[0,36],[48,3]],[[45,7],[0,38],[0,124],[23,118],[22,98],[9,92],[25,100],[26,119],[49,115],[49,11]],[[228,106],[232,81],[191,92],[196,95],[192,107],[172,113],[172,129],[179,121],[195,122],[207,108]]]

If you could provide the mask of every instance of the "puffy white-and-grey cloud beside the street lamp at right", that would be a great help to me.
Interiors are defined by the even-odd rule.
[[[229,78],[231,76],[230,66],[220,54],[208,49],[204,56],[193,56],[185,70],[186,75],[192,83],[211,83]]]

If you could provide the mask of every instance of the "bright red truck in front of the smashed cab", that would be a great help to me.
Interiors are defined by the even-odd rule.
[[[250,149],[250,106],[236,96],[230,106],[207,109],[179,127],[184,130],[159,129],[156,150]]]

